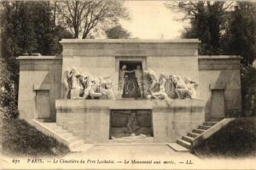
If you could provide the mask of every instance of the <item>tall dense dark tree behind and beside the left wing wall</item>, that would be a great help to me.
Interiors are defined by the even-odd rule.
[[[59,41],[62,37],[68,37],[68,32],[54,25],[49,2],[14,1],[0,4],[3,5],[2,54],[6,63],[0,80],[4,86],[0,90],[0,98],[3,97],[0,103],[13,111],[14,106],[17,107],[19,85],[19,64],[16,58],[22,54],[60,54]]]

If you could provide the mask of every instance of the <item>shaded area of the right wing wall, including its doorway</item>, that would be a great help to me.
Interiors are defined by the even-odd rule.
[[[240,72],[218,71],[218,78],[209,83],[210,98],[206,102],[206,120],[221,120],[224,117],[241,115]]]

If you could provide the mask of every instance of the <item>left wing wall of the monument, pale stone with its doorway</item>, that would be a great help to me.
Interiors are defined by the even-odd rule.
[[[55,56],[20,56],[19,111],[20,118],[55,121],[55,99],[61,98],[61,58]],[[37,93],[43,98],[38,101]],[[44,95],[47,94],[45,97]],[[45,101],[48,99],[49,101]],[[48,109],[50,116],[45,115]],[[42,115],[40,115],[42,112]]]

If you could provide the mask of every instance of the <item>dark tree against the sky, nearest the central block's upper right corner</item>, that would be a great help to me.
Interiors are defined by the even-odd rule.
[[[167,3],[167,8],[178,8],[185,13],[183,20],[190,20],[191,27],[183,32],[185,38],[201,40],[200,54],[222,54],[221,35],[232,3],[182,1]]]

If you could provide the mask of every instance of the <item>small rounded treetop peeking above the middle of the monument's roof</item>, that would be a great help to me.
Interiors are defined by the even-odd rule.
[[[109,39],[127,39],[131,37],[131,33],[120,25],[109,28],[105,33]]]

